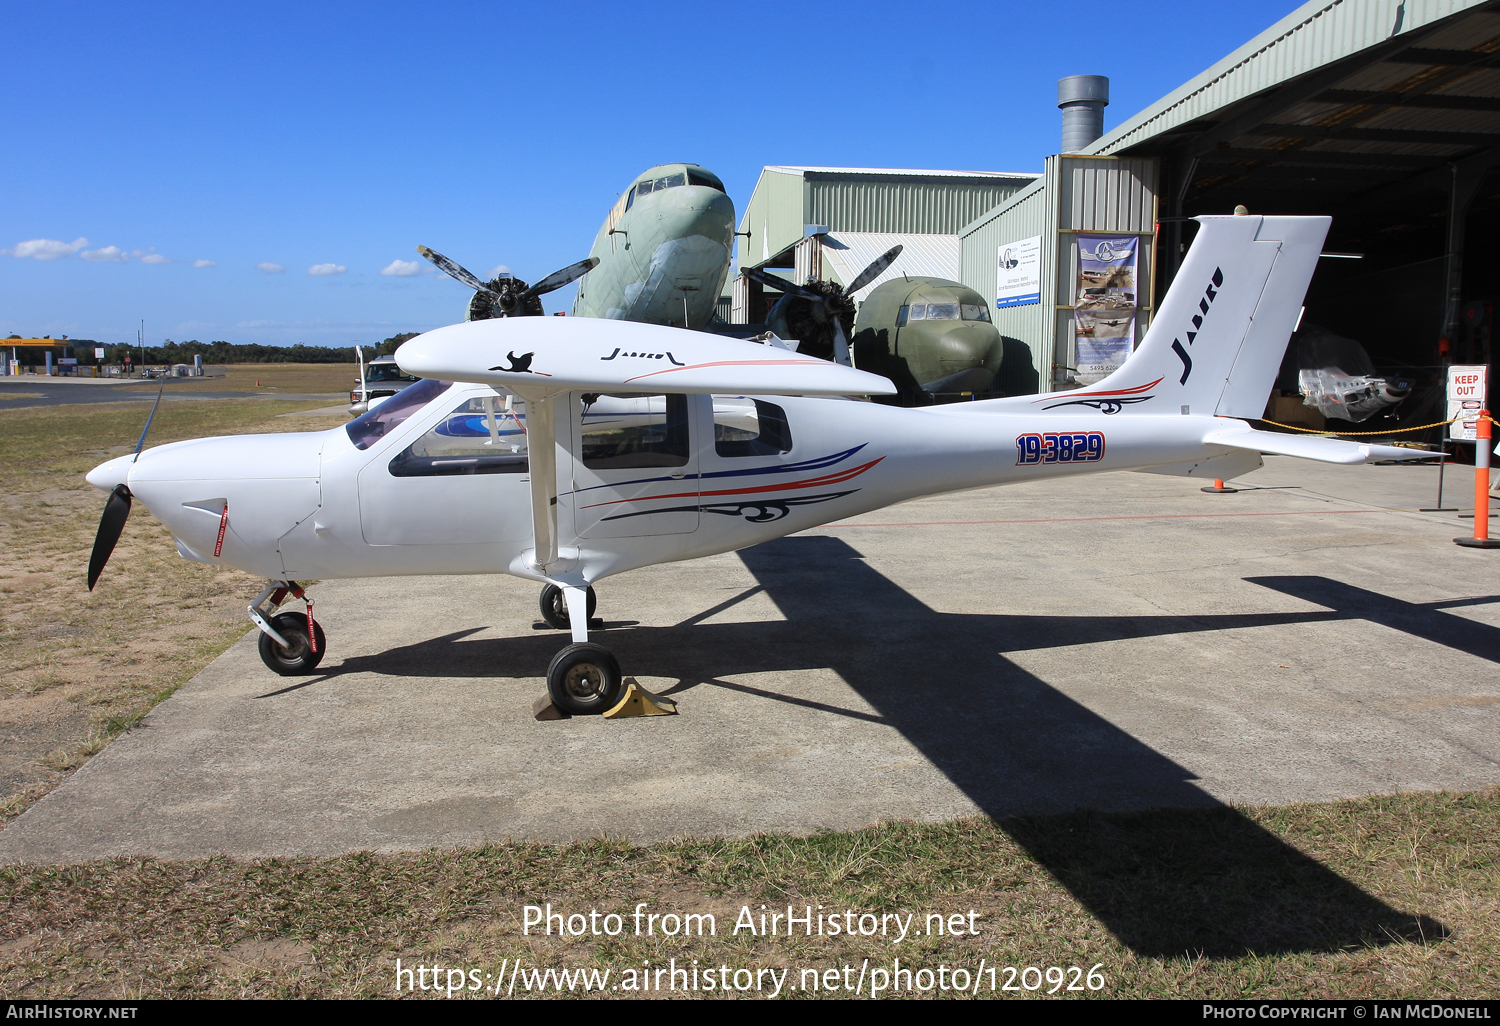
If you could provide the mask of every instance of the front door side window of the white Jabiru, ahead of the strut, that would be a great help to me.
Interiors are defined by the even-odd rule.
[[[524,405],[512,398],[476,396],[390,460],[392,477],[525,474]]]

